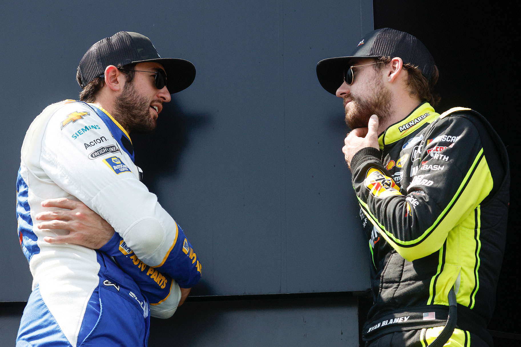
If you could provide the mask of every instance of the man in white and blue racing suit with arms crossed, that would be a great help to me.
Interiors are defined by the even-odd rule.
[[[17,219],[33,285],[17,346],[146,346],[150,316],[170,317],[200,279],[183,230],[140,182],[129,135],[152,131],[170,94],[194,78],[191,62],[160,58],[146,36],[121,31],[83,56],[82,101],[32,122]],[[83,204],[108,237],[87,230],[81,240],[60,225]]]

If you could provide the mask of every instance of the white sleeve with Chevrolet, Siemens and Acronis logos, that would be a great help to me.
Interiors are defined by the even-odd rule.
[[[97,147],[87,147],[90,143],[109,149],[92,156]],[[144,263],[164,264],[177,240],[176,223],[135,176],[126,153],[111,146],[119,148],[101,118],[87,105],[72,102],[49,119],[40,165],[58,186],[113,226]]]

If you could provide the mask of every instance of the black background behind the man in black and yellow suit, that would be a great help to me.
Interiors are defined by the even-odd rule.
[[[521,333],[519,280],[520,199],[519,172],[518,28],[514,13],[499,3],[374,0],[375,29],[394,28],[419,38],[435,58],[440,71],[437,90],[443,112],[461,106],[483,114],[508,151],[511,200],[508,234],[498,284],[496,309],[489,329]],[[500,334],[496,334],[500,335]],[[518,336],[517,338],[521,338]],[[498,346],[514,343],[497,338]],[[515,345],[521,344],[517,341]]]

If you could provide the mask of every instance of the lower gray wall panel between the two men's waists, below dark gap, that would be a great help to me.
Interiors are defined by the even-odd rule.
[[[356,298],[188,302],[152,319],[151,346],[358,346]],[[173,338],[165,338],[168,329]]]

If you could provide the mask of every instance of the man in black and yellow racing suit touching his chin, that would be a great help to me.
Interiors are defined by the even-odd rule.
[[[317,76],[353,129],[343,152],[373,257],[366,345],[493,345],[510,184],[501,139],[471,109],[433,109],[438,71],[410,34],[375,30]]]

